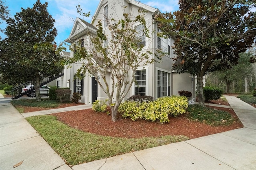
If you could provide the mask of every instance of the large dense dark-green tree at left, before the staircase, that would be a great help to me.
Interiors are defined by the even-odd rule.
[[[38,0],[33,8],[21,8],[6,20],[6,38],[0,43],[2,79],[16,84],[32,81],[36,99],[40,101],[40,81],[59,74],[64,68],[62,57],[56,53],[55,20],[47,11],[48,3]]]

